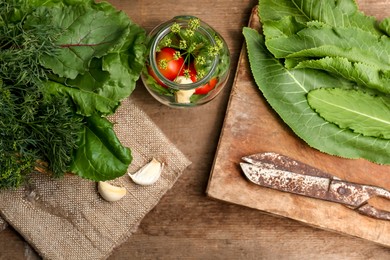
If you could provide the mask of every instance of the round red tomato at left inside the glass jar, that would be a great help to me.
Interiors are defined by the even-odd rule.
[[[175,59],[175,53],[177,50],[169,47],[162,48],[156,53],[156,62],[161,74],[169,80],[174,80],[184,67],[183,57]],[[166,66],[162,67],[161,63],[165,63]]]

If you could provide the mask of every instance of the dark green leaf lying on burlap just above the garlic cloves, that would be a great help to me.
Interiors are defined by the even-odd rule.
[[[130,149],[122,146],[112,123],[97,115],[86,118],[84,133],[73,158],[70,170],[94,181],[122,176],[132,161]]]

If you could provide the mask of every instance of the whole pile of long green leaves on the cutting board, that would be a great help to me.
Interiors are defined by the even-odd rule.
[[[264,35],[243,34],[256,84],[279,116],[320,151],[390,164],[387,119],[370,120],[389,114],[389,20],[378,24],[352,0],[260,0],[259,17]],[[325,95],[333,102],[314,103]]]

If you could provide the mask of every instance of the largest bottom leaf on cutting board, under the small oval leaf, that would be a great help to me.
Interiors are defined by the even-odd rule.
[[[307,93],[320,87],[348,85],[317,70],[287,70],[265,47],[257,31],[243,30],[256,84],[283,121],[308,145],[331,155],[390,164],[389,140],[366,137],[325,121],[307,103]]]

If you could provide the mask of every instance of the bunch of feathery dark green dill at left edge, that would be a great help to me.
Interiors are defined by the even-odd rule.
[[[25,17],[10,21],[12,10],[0,1],[0,189],[25,183],[38,162],[61,177],[68,170],[83,127],[66,96],[44,91],[43,53],[54,54],[52,27],[26,27]]]

